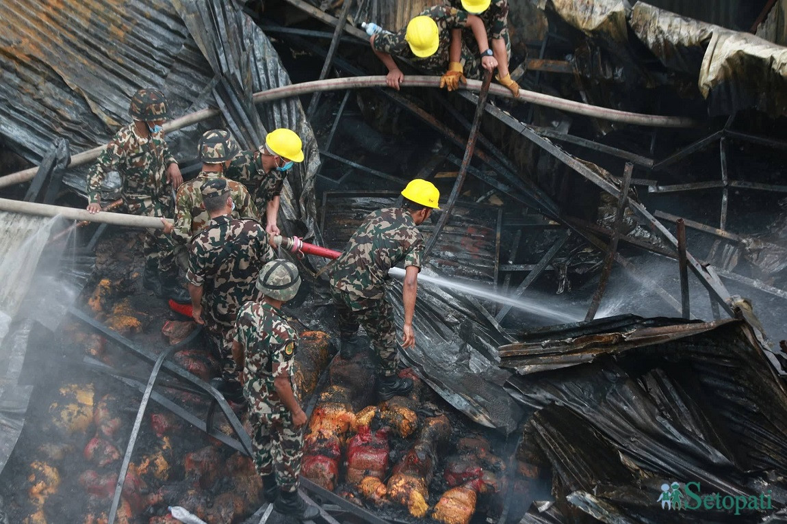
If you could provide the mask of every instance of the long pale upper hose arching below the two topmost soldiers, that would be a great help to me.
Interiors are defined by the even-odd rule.
[[[342,89],[360,89],[364,87],[386,87],[385,76],[358,76],[355,78],[331,78],[324,80],[317,80],[314,82],[295,83],[289,86],[275,87],[266,91],[260,91],[253,94],[253,101],[255,104],[260,104],[268,101],[280,100],[282,98],[290,98],[300,96],[301,94],[316,93],[319,91],[331,91]],[[439,76],[419,76],[408,75],[401,82],[402,87],[440,87]],[[481,90],[481,82],[478,80],[467,80],[467,84],[460,86],[460,89],[469,91]],[[513,98],[511,91],[507,87],[493,85],[490,87],[490,94],[498,97]],[[683,116],[658,116],[658,115],[645,115],[642,113],[629,113],[627,111],[619,111],[618,109],[609,109],[599,107],[597,105],[583,104],[582,102],[566,100],[564,98],[553,97],[549,94],[536,93],[534,91],[519,90],[519,97],[515,98],[516,101],[527,102],[529,104],[544,105],[552,109],[560,109],[568,113],[577,113],[580,115],[590,116],[592,118],[600,118],[602,120],[609,120],[611,122],[622,122],[625,124],[634,124],[648,127],[695,127],[696,120],[685,118]],[[219,109],[201,109],[200,111],[190,113],[180,118],[170,120],[164,124],[164,131],[171,133],[187,127],[192,124],[197,124],[202,120],[207,120],[213,116],[219,116],[221,111]],[[94,147],[82,153],[73,155],[69,161],[68,166],[74,167],[78,165],[87,164],[98,158],[99,153],[105,146]],[[35,176],[38,168],[24,169],[23,171],[12,173],[0,177],[0,187],[12,186],[13,184],[27,182]]]

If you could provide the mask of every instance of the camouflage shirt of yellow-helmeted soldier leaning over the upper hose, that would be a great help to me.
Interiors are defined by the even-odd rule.
[[[430,57],[419,58],[412,53],[410,44],[405,40],[407,28],[400,29],[395,33],[383,31],[375,36],[375,42],[371,45],[375,51],[391,54],[397,57],[405,58],[412,61],[418,68],[422,68],[428,72],[436,75],[442,75],[448,69],[449,63],[449,45],[451,43],[451,30],[464,29],[467,27],[467,12],[455,9],[450,6],[433,6],[424,9],[419,16],[425,15],[430,17],[435,23],[438,24],[440,45],[438,50]],[[474,57],[467,46],[462,46],[461,61],[478,61]],[[468,74],[467,64],[465,65],[465,75]]]

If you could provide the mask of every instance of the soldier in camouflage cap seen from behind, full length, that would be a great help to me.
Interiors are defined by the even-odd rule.
[[[212,385],[230,400],[242,401],[238,369],[232,358],[235,316],[254,295],[260,268],[273,260],[268,234],[257,220],[232,218],[232,197],[226,179],[201,186],[210,220],[190,245],[189,293],[194,321],[204,324],[221,362],[221,378]]]

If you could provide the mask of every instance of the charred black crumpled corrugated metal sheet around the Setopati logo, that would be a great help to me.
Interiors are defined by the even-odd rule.
[[[536,410],[519,458],[552,468],[556,496],[547,515],[533,507],[522,522],[667,522],[657,501],[664,482],[770,496],[741,522],[768,522],[787,504],[787,390],[744,322],[512,383]],[[704,507],[667,520],[731,518]]]

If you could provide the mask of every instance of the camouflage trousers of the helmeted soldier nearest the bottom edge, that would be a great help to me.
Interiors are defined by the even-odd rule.
[[[263,392],[260,392],[263,393]],[[253,427],[254,467],[260,476],[275,473],[276,484],[283,491],[297,491],[303,459],[303,427],[293,426],[292,413],[286,409],[268,407],[262,398],[249,399],[249,405],[263,404],[266,411],[250,411]]]

